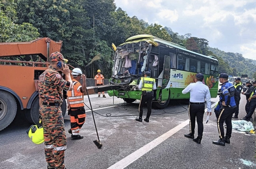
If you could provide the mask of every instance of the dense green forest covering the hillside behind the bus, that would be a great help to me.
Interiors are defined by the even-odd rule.
[[[192,37],[190,33],[179,35],[171,28],[129,17],[113,0],[2,0],[0,21],[0,42],[30,41],[37,37],[62,40],[64,57],[87,77],[94,77],[97,69],[105,77],[111,76],[112,43],[119,45],[133,35],[150,34],[215,56],[220,63],[219,73],[256,78],[256,61],[245,59],[240,53],[211,48],[207,39]],[[29,59],[36,61],[36,57]]]

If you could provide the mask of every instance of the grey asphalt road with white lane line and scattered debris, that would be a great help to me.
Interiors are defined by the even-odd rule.
[[[113,105],[113,98],[109,96],[98,98],[95,94],[90,98],[95,112],[102,115],[94,114],[103,147],[98,149],[93,143],[97,136],[92,114],[86,108],[86,122],[80,131],[84,139],[73,141],[67,133],[65,164],[68,169],[256,168],[254,134],[233,130],[230,144],[212,144],[212,141],[218,140],[214,113],[207,124],[204,122],[204,136],[201,144],[197,144],[184,137],[189,133],[185,109],[188,105],[180,100],[172,100],[164,110],[152,110],[150,122],[146,123],[135,121],[138,101],[124,104],[122,99],[115,98]],[[212,104],[217,100],[212,99]],[[87,96],[85,102],[89,106]],[[242,95],[239,118],[246,114],[244,106],[245,97]],[[146,107],[144,112],[146,114]],[[112,117],[104,117],[106,114]],[[64,119],[67,131],[70,120],[67,115]],[[32,143],[26,134],[29,126],[22,112],[19,112],[11,125],[0,131],[0,169],[47,168],[44,144]]]

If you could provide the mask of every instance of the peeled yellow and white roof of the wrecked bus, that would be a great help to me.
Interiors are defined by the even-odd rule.
[[[200,53],[190,51],[190,50],[186,49],[186,47],[184,47],[184,46],[181,46],[181,45],[178,45],[176,43],[172,43],[172,42],[160,39],[159,37],[155,37],[153,35],[146,35],[146,34],[145,35],[135,35],[135,36],[132,36],[132,37],[129,37],[128,39],[126,39],[125,43],[137,43],[137,42],[140,42],[140,41],[147,41],[147,40],[156,41],[156,42],[168,45],[168,46],[176,47],[178,49],[188,51],[190,53],[194,53],[196,55],[200,55],[200,56],[203,56],[203,57],[208,57],[210,59],[214,59],[214,60],[218,61],[216,59],[216,57],[214,57],[214,56],[206,56],[206,55],[202,55]],[[121,45],[124,45],[125,43],[122,43]]]

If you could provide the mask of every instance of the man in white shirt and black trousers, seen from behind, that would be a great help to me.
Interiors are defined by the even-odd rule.
[[[182,94],[190,92],[190,104],[188,106],[190,133],[185,134],[184,136],[186,138],[192,138],[193,141],[198,144],[201,143],[204,131],[203,118],[205,100],[207,104],[207,115],[209,113],[212,115],[210,90],[208,86],[202,83],[203,79],[204,75],[202,73],[196,74],[196,83],[191,83],[184,90],[182,90]],[[198,126],[198,137],[194,138],[196,122]]]

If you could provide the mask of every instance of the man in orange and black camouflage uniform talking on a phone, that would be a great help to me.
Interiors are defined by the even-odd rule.
[[[44,128],[44,153],[47,169],[65,169],[64,152],[67,139],[61,111],[63,89],[73,90],[68,61],[59,52],[50,55],[50,66],[39,76],[39,113]],[[66,81],[58,71],[66,76]],[[65,100],[64,100],[65,101]]]

